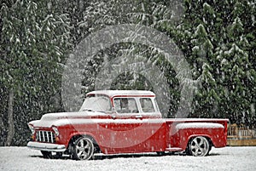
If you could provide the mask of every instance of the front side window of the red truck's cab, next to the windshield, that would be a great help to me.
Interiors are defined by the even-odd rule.
[[[136,101],[133,98],[114,98],[113,104],[118,113],[138,113]]]

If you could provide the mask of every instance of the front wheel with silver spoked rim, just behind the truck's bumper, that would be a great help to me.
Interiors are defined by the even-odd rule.
[[[94,153],[94,145],[90,138],[88,137],[79,137],[78,140],[75,140],[73,143],[72,155],[76,160],[89,160]]]

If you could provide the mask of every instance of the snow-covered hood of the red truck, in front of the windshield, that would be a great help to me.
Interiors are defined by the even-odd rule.
[[[31,124],[35,128],[50,128],[52,126],[61,126],[67,125],[70,123],[76,123],[77,120],[88,120],[97,118],[111,118],[109,114],[98,111],[77,111],[77,112],[61,112],[61,113],[47,113],[41,117],[40,120],[32,121],[28,124]]]

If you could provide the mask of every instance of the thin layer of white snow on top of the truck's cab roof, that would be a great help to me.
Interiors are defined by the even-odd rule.
[[[129,96],[137,96],[137,95],[149,95],[149,96],[155,96],[155,94],[151,91],[147,90],[96,90],[92,91],[86,95],[89,94],[106,94],[109,97],[117,96],[117,95],[129,95]]]

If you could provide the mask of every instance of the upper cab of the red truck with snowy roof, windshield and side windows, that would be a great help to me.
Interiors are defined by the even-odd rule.
[[[161,118],[155,94],[150,91],[93,91],[86,94],[79,111],[103,111],[116,118]]]

